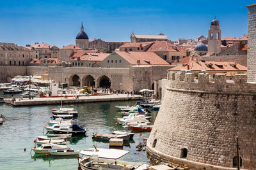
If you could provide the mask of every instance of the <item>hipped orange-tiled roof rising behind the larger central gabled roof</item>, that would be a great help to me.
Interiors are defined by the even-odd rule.
[[[148,48],[147,52],[186,52],[186,50],[167,41],[155,41],[154,44]]]

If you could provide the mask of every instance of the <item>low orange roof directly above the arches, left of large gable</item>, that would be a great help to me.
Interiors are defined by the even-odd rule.
[[[104,59],[106,59],[106,57],[108,57],[108,55],[110,55],[110,53],[86,53],[84,55],[81,55],[80,59],[81,61],[102,61]],[[72,61],[77,61],[77,57],[74,56],[74,59],[71,59]]]

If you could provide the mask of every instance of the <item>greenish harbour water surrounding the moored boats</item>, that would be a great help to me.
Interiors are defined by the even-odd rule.
[[[109,148],[109,143],[92,141],[92,132],[111,133],[116,128],[114,118],[118,115],[115,105],[131,106],[134,103],[135,101],[126,101],[74,105],[79,113],[77,123],[86,127],[88,132],[85,138],[68,140],[68,145],[75,150],[92,148],[92,145]],[[76,156],[46,157],[44,154],[35,155],[31,151],[36,136],[44,135],[43,127],[51,117],[52,108],[58,108],[58,105],[12,107],[0,104],[0,112],[6,117],[3,125],[0,125],[0,169],[77,169]],[[156,118],[156,112],[152,117]],[[117,129],[123,128],[118,125]],[[139,133],[134,135],[134,142],[123,147],[130,152],[125,160],[148,163],[146,152],[136,152],[138,143],[148,136],[149,132],[143,132],[141,136]]]

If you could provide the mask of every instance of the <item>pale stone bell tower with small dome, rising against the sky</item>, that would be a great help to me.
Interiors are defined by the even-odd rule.
[[[208,31],[208,52],[219,53],[221,52],[221,30],[219,21],[214,18],[211,21],[211,27]]]

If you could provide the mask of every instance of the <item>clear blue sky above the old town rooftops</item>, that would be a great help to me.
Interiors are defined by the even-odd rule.
[[[127,40],[136,34],[166,34],[169,39],[193,38],[207,31],[212,18],[222,36],[247,34],[251,0],[56,1],[0,0],[0,42],[25,46],[75,43],[84,22],[89,39]]]

